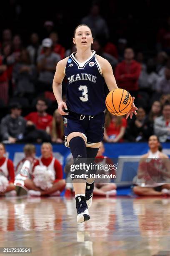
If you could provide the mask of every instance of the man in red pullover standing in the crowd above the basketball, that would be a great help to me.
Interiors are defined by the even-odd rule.
[[[126,48],[124,57],[125,60],[119,63],[115,69],[115,79],[119,88],[127,90],[132,97],[137,97],[141,66],[134,60],[133,49]]]

